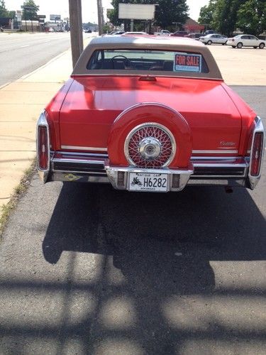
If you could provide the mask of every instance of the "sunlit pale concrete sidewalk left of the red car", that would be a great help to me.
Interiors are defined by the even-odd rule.
[[[86,40],[87,42],[87,40]],[[0,216],[35,158],[40,112],[72,72],[71,50],[0,88]]]

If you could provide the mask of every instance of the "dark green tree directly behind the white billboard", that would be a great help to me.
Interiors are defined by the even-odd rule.
[[[109,11],[108,18],[115,26],[129,21],[118,18],[118,4],[121,0],[112,0],[113,9]],[[124,4],[158,4],[155,8],[155,23],[157,26],[167,28],[172,22],[185,23],[189,7],[186,0],[123,0]],[[134,21],[135,22],[135,21]],[[139,24],[141,26],[141,24]],[[143,26],[143,25],[142,25]]]

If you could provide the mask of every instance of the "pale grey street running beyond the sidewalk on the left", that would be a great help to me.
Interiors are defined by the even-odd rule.
[[[0,86],[70,48],[70,33],[0,33]]]

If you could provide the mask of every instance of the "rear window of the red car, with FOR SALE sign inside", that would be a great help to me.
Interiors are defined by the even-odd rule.
[[[209,68],[199,53],[169,50],[95,50],[88,70],[152,70],[162,72],[207,73]]]

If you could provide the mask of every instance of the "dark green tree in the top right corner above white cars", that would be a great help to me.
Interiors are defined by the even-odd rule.
[[[238,10],[236,26],[245,33],[260,35],[266,29],[266,2],[245,1]]]

